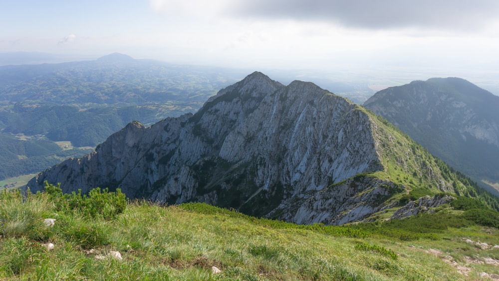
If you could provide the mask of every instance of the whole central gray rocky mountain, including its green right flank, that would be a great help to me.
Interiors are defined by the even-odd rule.
[[[64,192],[120,188],[130,198],[205,202],[300,224],[375,219],[442,192],[497,201],[384,119],[313,83],[259,72],[195,114],[132,122],[82,158],[33,178]],[[393,210],[392,210],[393,212]]]

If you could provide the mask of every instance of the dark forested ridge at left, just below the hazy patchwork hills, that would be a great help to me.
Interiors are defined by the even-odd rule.
[[[80,108],[76,105],[32,106],[15,104],[0,111],[2,133],[42,135],[51,141],[70,141],[77,147],[91,146],[129,122],[142,120],[152,124],[167,116],[191,112],[199,103],[181,105],[100,106]]]

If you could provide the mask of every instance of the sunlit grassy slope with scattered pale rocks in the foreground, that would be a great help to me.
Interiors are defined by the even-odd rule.
[[[454,218],[452,226],[404,230],[403,222],[414,223],[400,221],[393,230],[413,234],[402,240],[383,234],[392,233],[384,224],[297,226],[205,204],[135,202],[107,219],[56,206],[47,193],[24,201],[12,191],[1,194],[0,279],[476,280],[482,272],[499,274],[485,263],[498,261],[499,249],[465,241],[496,245],[498,230],[462,220],[453,214],[458,211],[431,215]],[[431,216],[418,220],[446,221]],[[56,218],[55,225],[43,226],[45,218]],[[41,246],[47,242],[54,250]],[[96,259],[109,251],[123,260]],[[212,266],[222,273],[212,274]]]

